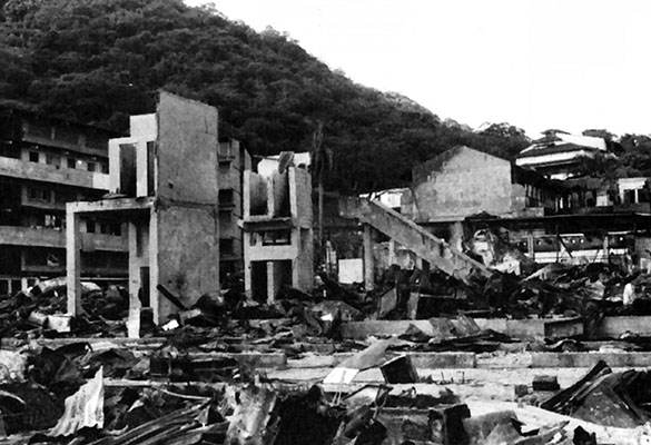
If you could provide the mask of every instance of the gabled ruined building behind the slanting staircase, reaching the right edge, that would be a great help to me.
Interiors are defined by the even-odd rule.
[[[599,261],[648,269],[649,197],[648,178],[553,180],[456,147],[414,168],[400,212],[502,270],[519,273],[523,255],[539,264]],[[514,249],[495,251],[495,236]],[[379,255],[376,249],[376,264],[421,267],[414,249],[395,238],[385,243],[388,248]]]

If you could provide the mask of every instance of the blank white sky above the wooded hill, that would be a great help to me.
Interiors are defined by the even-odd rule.
[[[213,3],[257,31],[287,32],[331,69],[442,119],[473,128],[509,122],[530,137],[550,128],[651,134],[645,0]]]

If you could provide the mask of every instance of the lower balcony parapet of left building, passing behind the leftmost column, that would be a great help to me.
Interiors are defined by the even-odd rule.
[[[66,230],[0,226],[0,245],[66,248]],[[127,237],[82,234],[83,250],[127,251]]]

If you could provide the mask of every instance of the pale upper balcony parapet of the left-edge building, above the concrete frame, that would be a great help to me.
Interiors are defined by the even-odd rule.
[[[93,171],[58,168],[47,164],[0,157],[0,177],[108,190],[109,176]]]

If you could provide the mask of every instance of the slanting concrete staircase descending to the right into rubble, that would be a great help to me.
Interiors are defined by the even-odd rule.
[[[361,222],[374,227],[428,261],[430,265],[464,283],[468,283],[471,276],[493,275],[483,264],[379,202],[347,198],[339,204],[339,215],[343,218],[357,218]]]

